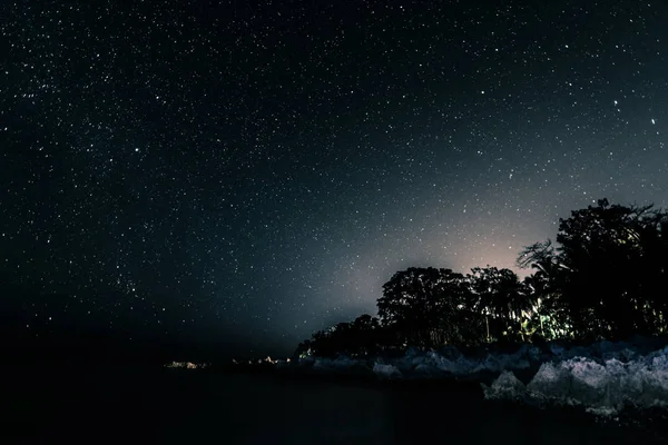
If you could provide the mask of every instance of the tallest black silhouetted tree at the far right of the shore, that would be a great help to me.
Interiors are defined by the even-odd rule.
[[[579,336],[623,338],[654,334],[664,313],[666,274],[661,225],[666,214],[652,206],[597,206],[561,219],[557,243],[567,273],[557,287]],[[649,273],[649,274],[648,274]],[[657,314],[657,310],[659,314]]]

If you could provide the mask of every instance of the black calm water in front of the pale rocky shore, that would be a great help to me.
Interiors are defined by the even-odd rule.
[[[488,403],[470,389],[62,366],[4,367],[1,378],[1,444],[668,443],[656,431]]]

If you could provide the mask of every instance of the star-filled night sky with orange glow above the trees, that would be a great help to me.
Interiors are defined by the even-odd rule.
[[[667,19],[2,2],[0,309],[27,335],[289,352],[375,314],[396,270],[512,268],[599,198],[666,207]]]

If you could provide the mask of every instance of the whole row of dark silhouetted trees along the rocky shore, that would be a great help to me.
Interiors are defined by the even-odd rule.
[[[668,330],[668,214],[610,205],[560,219],[556,245],[522,250],[510,269],[409,268],[383,285],[377,317],[315,333],[296,354],[366,355],[414,346],[623,339]]]

